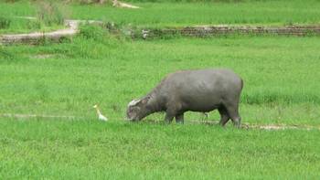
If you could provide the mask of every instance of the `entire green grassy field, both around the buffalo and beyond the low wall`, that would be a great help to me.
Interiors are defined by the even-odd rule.
[[[310,2],[138,3],[150,8],[137,11],[69,8],[75,18],[142,26],[245,23],[237,20],[240,15],[242,20],[256,17],[249,23],[270,25],[288,22],[283,15],[289,14],[281,12],[291,12],[294,23],[316,23],[320,4]],[[263,16],[273,11],[271,5],[280,13]],[[227,15],[222,7],[234,14],[205,16]],[[0,8],[0,15],[34,15],[25,1],[0,3]],[[215,8],[222,9],[209,11]],[[244,16],[246,8],[257,13]],[[151,9],[161,13],[151,16]],[[197,9],[203,18],[187,15],[188,9]],[[110,35],[97,26],[81,26],[79,36],[59,44],[0,46],[0,179],[318,179],[319,130],[221,128],[196,124],[203,118],[198,112],[187,112],[185,125],[165,125],[163,113],[139,123],[124,119],[127,103],[167,73],[219,67],[244,79],[243,123],[320,127],[319,49],[320,37],[312,36],[143,40]],[[95,103],[109,122],[97,120]],[[7,113],[75,118],[9,118]],[[218,120],[217,111],[209,113],[209,122]]]

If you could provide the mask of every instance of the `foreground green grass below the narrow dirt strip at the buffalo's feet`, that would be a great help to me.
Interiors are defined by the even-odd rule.
[[[95,120],[2,120],[0,125],[2,179],[317,179],[320,175],[319,131]]]

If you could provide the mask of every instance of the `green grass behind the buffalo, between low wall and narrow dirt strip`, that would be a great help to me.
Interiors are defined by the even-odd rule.
[[[95,38],[2,48],[0,113],[93,118],[91,106],[100,103],[112,120],[123,120],[126,104],[167,73],[222,67],[244,79],[243,122],[319,125],[319,37]],[[200,118],[187,113],[187,120]],[[218,119],[212,112],[210,120]]]

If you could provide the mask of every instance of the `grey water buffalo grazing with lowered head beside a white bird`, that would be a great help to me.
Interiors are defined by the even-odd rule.
[[[140,121],[145,116],[165,111],[165,122],[184,122],[184,112],[217,110],[220,124],[229,119],[240,126],[239,101],[243,81],[229,69],[183,70],[169,74],[138,100],[129,102],[127,118]]]

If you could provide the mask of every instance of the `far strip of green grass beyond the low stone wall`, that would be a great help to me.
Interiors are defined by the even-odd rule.
[[[244,1],[240,3],[138,3],[141,9],[110,5],[65,5],[70,18],[113,21],[123,26],[291,25],[319,24],[320,2]],[[1,14],[35,16],[35,5],[0,3]]]

